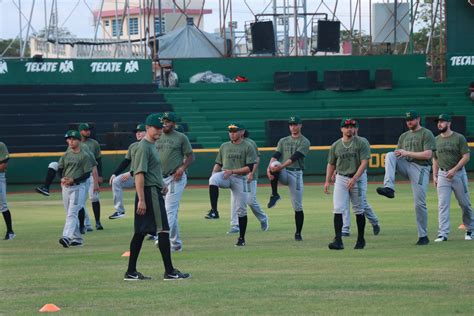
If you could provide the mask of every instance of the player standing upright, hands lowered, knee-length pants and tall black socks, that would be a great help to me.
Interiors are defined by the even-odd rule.
[[[324,193],[329,194],[331,176],[336,172],[334,183],[334,232],[336,237],[328,247],[332,250],[344,249],[342,243],[343,214],[348,213],[350,204],[357,220],[357,242],[354,249],[364,249],[365,216],[364,200],[367,192],[367,181],[361,181],[370,158],[370,145],[367,140],[355,136],[356,121],[341,121],[342,138],[331,145],[326,167]],[[364,188],[365,186],[365,188]]]

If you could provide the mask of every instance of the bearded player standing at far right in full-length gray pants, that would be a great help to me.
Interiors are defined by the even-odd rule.
[[[438,192],[438,238],[435,242],[448,240],[451,192],[462,210],[462,220],[466,227],[465,240],[472,240],[474,215],[466,169],[470,150],[466,138],[451,130],[451,115],[440,114],[435,120],[440,134],[436,136],[436,151],[433,156],[433,183]]]

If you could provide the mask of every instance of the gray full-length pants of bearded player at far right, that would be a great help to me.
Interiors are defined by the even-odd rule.
[[[456,200],[462,210],[462,222],[467,231],[474,229],[474,216],[472,212],[471,199],[469,197],[469,187],[466,169],[459,170],[452,179],[448,179],[447,171],[438,172],[438,236],[448,237],[449,235],[449,214],[451,208],[451,192],[454,192]]]

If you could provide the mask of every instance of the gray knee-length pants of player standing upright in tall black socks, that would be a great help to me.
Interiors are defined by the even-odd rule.
[[[336,175],[333,194],[334,214],[349,213],[351,203],[354,214],[359,215],[364,213],[362,201],[364,200],[363,194],[365,194],[367,188],[365,188],[365,190],[363,189],[362,181],[359,179],[352,189],[348,190],[346,185],[350,180],[351,178],[349,177],[339,174]]]

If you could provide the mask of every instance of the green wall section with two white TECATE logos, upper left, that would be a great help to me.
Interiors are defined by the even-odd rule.
[[[150,84],[151,60],[3,59],[0,85]]]

